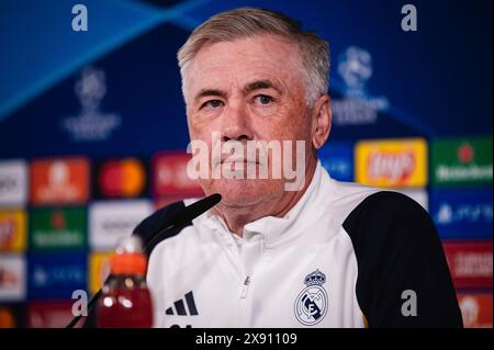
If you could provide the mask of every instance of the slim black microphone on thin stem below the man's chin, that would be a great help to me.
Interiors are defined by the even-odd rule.
[[[211,194],[189,206],[175,211],[171,213],[171,216],[165,221],[162,216],[169,216],[170,213],[166,212],[166,207],[161,208],[138,224],[134,229],[133,235],[137,235],[143,239],[144,250],[149,255],[151,248],[159,241],[159,238],[161,238],[162,235],[169,233],[169,230],[173,228],[188,225],[192,219],[204,214],[220,203],[221,200],[222,195],[220,193]],[[151,232],[151,234],[148,234],[149,232]],[[88,313],[92,311],[96,303],[101,297],[101,294],[102,290],[100,289],[89,301]],[[66,328],[72,328],[81,318],[81,315],[75,316]]]

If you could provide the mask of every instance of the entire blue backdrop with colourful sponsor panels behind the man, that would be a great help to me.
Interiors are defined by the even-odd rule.
[[[408,2],[415,32],[391,0],[2,1],[0,327],[64,326],[120,237],[202,195],[186,174],[176,52],[240,5],[283,11],[330,42],[323,166],[429,211],[465,326],[492,327],[492,3]],[[87,32],[71,29],[76,3]]]

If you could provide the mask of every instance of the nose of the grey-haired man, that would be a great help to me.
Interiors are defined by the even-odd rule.
[[[231,139],[246,142],[254,137],[248,112],[242,103],[228,105],[222,123],[223,142]]]

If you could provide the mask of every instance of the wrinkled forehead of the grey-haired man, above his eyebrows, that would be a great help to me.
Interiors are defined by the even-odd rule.
[[[233,84],[242,89],[256,79],[296,84],[302,79],[302,60],[295,43],[256,35],[206,44],[183,71],[184,93],[190,95],[202,89],[227,89]]]

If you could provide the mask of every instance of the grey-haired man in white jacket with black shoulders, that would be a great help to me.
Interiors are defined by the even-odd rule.
[[[332,122],[326,42],[244,8],[200,25],[178,59],[192,143],[212,153],[273,142],[282,157],[272,147],[265,162],[209,158],[201,183],[222,202],[150,252],[157,327],[461,327],[428,214],[398,193],[337,182],[317,160]],[[288,190],[293,179],[273,173],[300,159]],[[257,177],[242,176],[248,166]],[[217,167],[236,176],[213,177]]]

